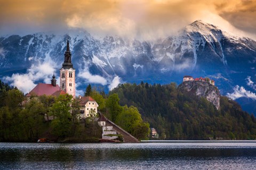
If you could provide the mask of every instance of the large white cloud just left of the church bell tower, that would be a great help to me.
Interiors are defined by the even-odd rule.
[[[39,80],[43,80],[47,84],[51,83],[53,66],[51,61],[37,62],[31,65],[26,74],[13,74],[11,77],[4,77],[4,80],[11,83],[12,86],[18,87],[23,93],[28,93],[36,86],[35,82]]]

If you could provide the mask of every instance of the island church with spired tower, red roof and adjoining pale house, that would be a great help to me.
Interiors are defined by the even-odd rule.
[[[62,68],[60,69],[60,85],[56,82],[56,77],[53,74],[51,79],[51,84],[39,83],[33,90],[26,94],[27,98],[32,96],[41,96],[41,95],[53,95],[59,96],[61,94],[70,94],[75,99],[76,97],[76,74],[75,69],[73,68],[73,63],[71,62],[71,52],[69,49],[69,40],[67,41],[67,49],[64,54],[64,62]],[[98,112],[98,103],[91,98],[90,96],[82,97],[79,96],[79,105],[81,107],[81,118],[86,117],[95,117]],[[91,114],[93,113],[93,114]]]

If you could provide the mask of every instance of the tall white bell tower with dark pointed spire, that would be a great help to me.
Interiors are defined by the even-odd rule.
[[[69,50],[69,41],[67,41],[67,50],[64,54],[64,62],[60,69],[60,88],[66,93],[76,96],[75,69],[71,63],[71,52]]]

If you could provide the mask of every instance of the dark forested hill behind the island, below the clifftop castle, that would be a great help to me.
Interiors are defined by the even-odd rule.
[[[177,88],[175,83],[121,84],[110,91],[112,93],[118,94],[121,105],[137,107],[150,127],[156,128],[159,139],[256,139],[254,116],[225,96],[220,96],[220,108],[217,110],[206,98],[191,95]]]

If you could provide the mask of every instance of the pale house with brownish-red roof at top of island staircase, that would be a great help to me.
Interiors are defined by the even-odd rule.
[[[96,117],[98,112],[98,103],[90,96],[79,96],[79,105],[81,118]]]

